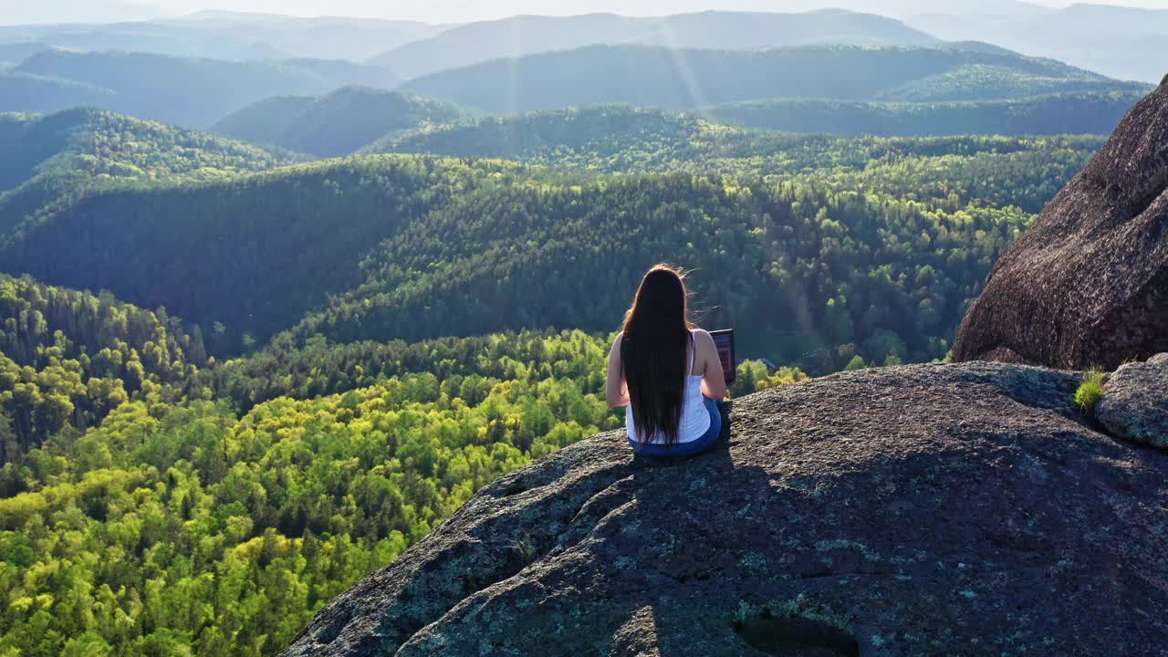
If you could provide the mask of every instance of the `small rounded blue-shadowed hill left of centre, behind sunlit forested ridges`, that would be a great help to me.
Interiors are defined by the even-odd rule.
[[[353,153],[390,133],[470,116],[450,103],[346,87],[317,98],[267,98],[231,113],[211,130],[244,141],[332,158]]]

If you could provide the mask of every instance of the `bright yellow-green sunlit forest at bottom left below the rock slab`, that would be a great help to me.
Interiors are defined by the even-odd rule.
[[[479,486],[616,427],[603,346],[482,339],[466,353],[512,361],[508,380],[403,372],[242,417],[120,404],[2,471],[0,650],[273,653]]]

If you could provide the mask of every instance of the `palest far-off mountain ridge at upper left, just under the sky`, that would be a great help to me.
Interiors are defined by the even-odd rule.
[[[126,50],[221,60],[363,61],[443,28],[412,21],[300,19],[208,12],[111,25],[0,27],[0,42],[39,41],[76,50]]]

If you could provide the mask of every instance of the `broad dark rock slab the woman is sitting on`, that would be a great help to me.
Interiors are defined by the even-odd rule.
[[[691,459],[584,441],[480,491],[286,653],[1108,655],[1168,645],[1168,454],[1072,373],[848,373]]]

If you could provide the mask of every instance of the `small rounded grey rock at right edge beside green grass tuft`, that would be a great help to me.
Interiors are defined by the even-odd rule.
[[[1113,436],[1168,448],[1168,353],[1108,376],[1096,417]]]

